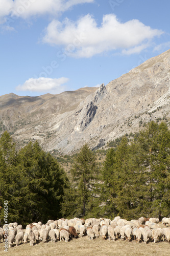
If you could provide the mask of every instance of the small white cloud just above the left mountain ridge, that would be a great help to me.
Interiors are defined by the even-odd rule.
[[[61,93],[65,91],[63,84],[68,82],[68,78],[29,78],[25,83],[17,86],[17,91],[31,91],[31,92],[48,92]]]

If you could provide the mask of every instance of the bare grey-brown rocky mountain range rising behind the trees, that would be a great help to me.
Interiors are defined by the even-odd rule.
[[[59,95],[0,96],[0,131],[25,145],[38,140],[45,151],[71,154],[137,132],[150,120],[169,116],[170,50],[153,57],[99,89]]]

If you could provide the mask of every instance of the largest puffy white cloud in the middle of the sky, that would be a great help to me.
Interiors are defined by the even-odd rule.
[[[121,23],[114,14],[104,15],[101,26],[98,26],[95,19],[87,14],[77,22],[68,18],[63,22],[54,19],[45,29],[42,41],[64,46],[70,56],[88,58],[117,49],[140,52],[149,41],[162,33],[137,19]]]

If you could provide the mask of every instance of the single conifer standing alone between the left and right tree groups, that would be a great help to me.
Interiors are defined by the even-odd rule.
[[[87,144],[85,144],[80,153],[75,157],[71,169],[72,189],[74,189],[74,208],[77,217],[84,217],[93,214],[96,208],[95,200],[98,200],[98,166],[96,158]]]

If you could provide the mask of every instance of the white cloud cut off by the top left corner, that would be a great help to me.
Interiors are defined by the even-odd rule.
[[[72,6],[92,3],[94,0],[0,0],[0,19],[11,17],[28,18],[33,15],[58,14]]]

